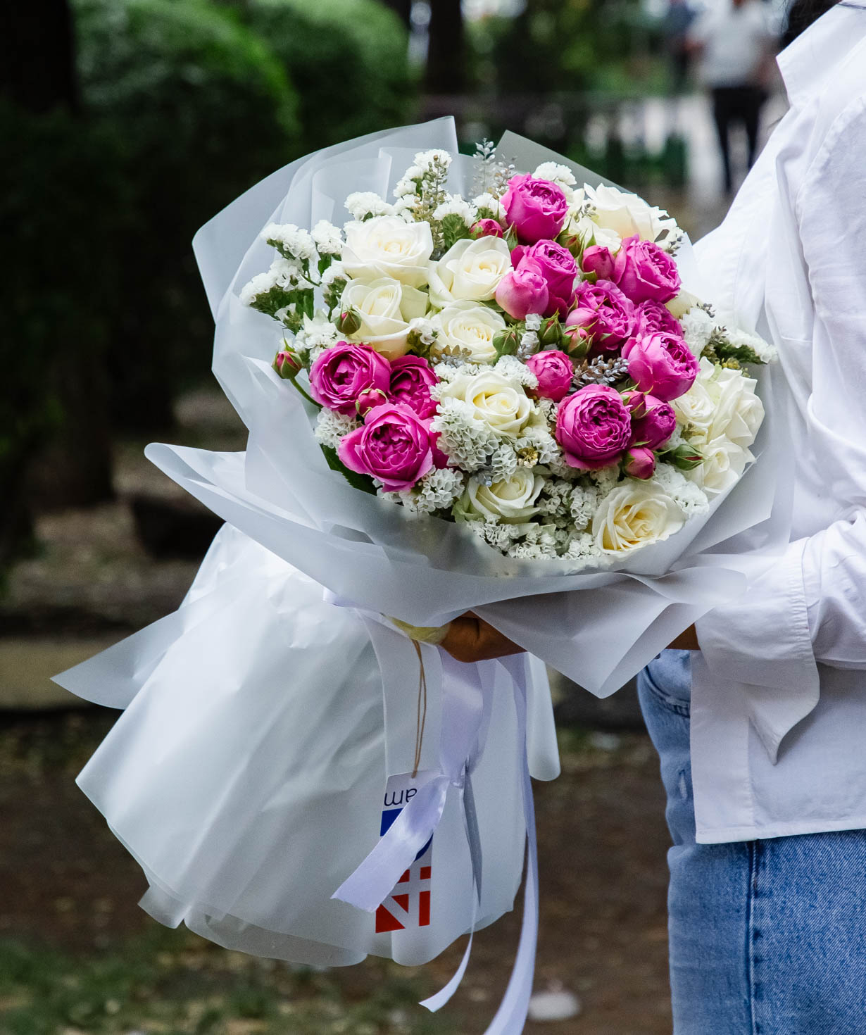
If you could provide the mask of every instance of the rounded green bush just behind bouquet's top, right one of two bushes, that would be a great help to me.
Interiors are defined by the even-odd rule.
[[[303,151],[407,121],[414,83],[400,20],[377,0],[235,0],[300,91]]]

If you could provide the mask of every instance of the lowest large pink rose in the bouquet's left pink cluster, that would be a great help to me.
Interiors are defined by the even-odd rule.
[[[389,493],[405,492],[434,466],[429,425],[399,403],[375,406],[361,427],[340,440],[337,455],[350,471],[377,478]]]

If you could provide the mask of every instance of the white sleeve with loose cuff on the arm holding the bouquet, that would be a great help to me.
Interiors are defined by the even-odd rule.
[[[834,121],[795,202],[814,307],[808,441],[839,519],[789,543],[696,623],[707,664],[745,684],[775,759],[818,700],[818,664],[866,670],[866,97]]]

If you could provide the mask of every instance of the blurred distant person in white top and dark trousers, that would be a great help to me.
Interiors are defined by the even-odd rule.
[[[688,32],[689,49],[699,56],[700,80],[713,98],[728,195],[734,190],[730,126],[739,122],[746,130],[751,169],[775,43],[762,0],[722,0],[719,7],[701,14]]]

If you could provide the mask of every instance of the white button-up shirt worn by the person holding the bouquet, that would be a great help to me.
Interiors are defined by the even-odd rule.
[[[790,543],[697,622],[697,839],[866,828],[866,0],[780,56],[790,110],[697,245],[793,398]]]

